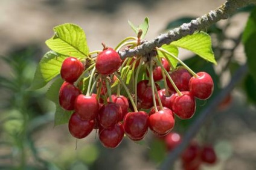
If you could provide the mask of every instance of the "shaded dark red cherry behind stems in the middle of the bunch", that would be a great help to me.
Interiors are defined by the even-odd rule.
[[[156,84],[157,90],[160,89],[159,85]],[[149,85],[149,80],[141,80],[137,84],[137,96],[141,103],[141,108],[150,109],[153,106],[153,95],[152,86]]]

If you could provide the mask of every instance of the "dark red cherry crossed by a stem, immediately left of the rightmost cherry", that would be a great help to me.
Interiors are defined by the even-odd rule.
[[[191,74],[188,70],[182,66],[176,68],[170,73],[171,79],[175,83],[176,87],[180,91],[189,91],[188,83],[190,82]],[[167,85],[171,91],[175,91],[173,85],[171,85],[170,80],[166,77]]]

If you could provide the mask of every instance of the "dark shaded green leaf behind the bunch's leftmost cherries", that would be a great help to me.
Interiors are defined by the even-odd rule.
[[[54,116],[54,126],[68,123],[68,120],[72,114],[72,111],[65,111],[59,105],[59,90],[62,86],[63,80],[59,77],[58,79],[54,80],[51,84],[49,90],[46,93],[47,99],[51,100],[56,105],[56,112]]]

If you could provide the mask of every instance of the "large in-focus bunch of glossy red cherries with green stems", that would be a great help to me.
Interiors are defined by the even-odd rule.
[[[174,127],[174,115],[193,117],[195,97],[208,99],[213,93],[213,79],[205,72],[194,73],[184,64],[174,69],[168,58],[159,57],[156,51],[154,54],[122,61],[116,50],[104,46],[86,63],[66,58],[60,70],[65,82],[60,87],[59,103],[66,111],[74,111],[68,123],[71,135],[81,139],[98,129],[101,144],[115,148],[124,134],[133,141],[143,139],[148,129],[165,136]],[[133,74],[128,83],[129,71],[124,72],[124,67]],[[142,67],[147,77],[138,82]],[[89,77],[88,83],[85,77]],[[162,89],[160,81],[164,82]]]

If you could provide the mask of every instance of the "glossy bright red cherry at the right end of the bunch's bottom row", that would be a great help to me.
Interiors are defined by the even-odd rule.
[[[150,115],[149,127],[153,132],[156,132],[159,135],[166,135],[174,127],[173,112],[168,108],[164,108],[163,110]]]

